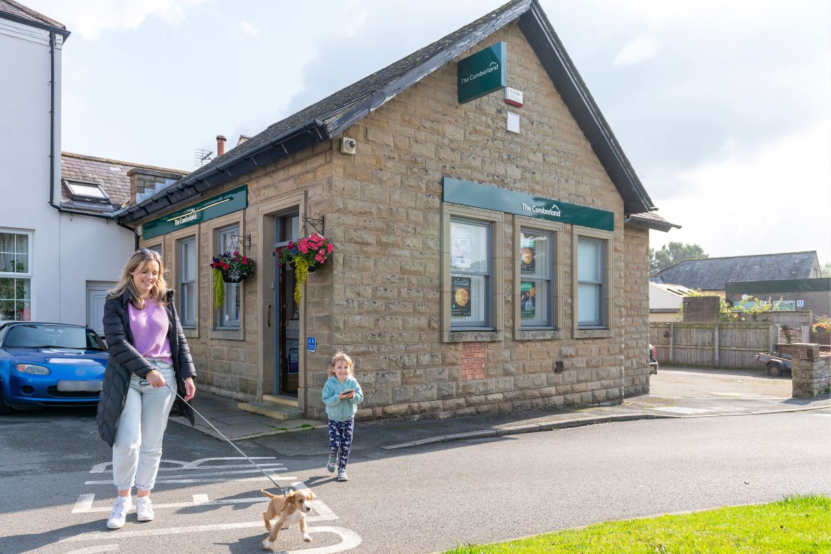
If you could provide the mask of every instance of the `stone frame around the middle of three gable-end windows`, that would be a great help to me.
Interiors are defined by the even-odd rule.
[[[514,216],[514,340],[544,340],[563,338],[563,223],[548,221],[545,219],[528,218],[521,215]],[[551,283],[550,297],[553,306],[549,306],[551,313],[551,324],[548,326],[524,326],[522,322],[522,267],[521,267],[521,245],[523,231],[536,231],[547,233],[551,237],[551,273],[548,282]]]

